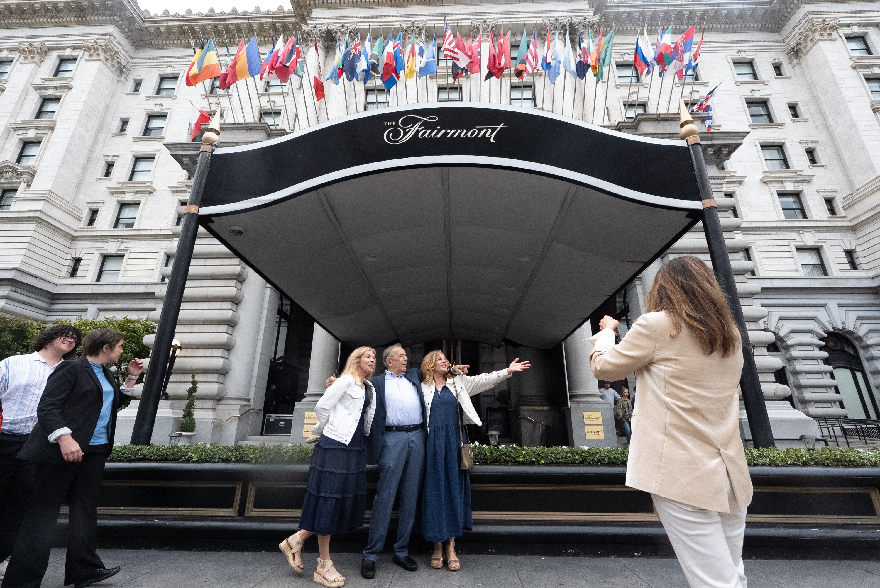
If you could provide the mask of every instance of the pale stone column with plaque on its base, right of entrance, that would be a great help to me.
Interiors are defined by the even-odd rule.
[[[568,409],[565,410],[568,442],[575,447],[616,447],[614,410],[599,392],[598,381],[590,369],[593,346],[585,339],[592,334],[590,321],[587,321],[562,344],[568,371]]]

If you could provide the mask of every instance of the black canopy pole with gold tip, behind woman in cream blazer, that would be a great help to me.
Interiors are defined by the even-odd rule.
[[[712,259],[712,267],[715,269],[718,284],[727,295],[733,320],[737,323],[743,336],[743,373],[740,375],[739,387],[743,392],[745,415],[749,420],[749,430],[752,432],[752,444],[755,447],[774,447],[776,444],[773,438],[773,428],[770,425],[770,417],[767,415],[764,403],[764,392],[761,390],[758,367],[755,365],[755,356],[752,352],[752,342],[749,341],[748,331],[745,330],[743,307],[739,303],[737,284],[733,277],[733,269],[730,267],[730,255],[727,252],[727,244],[724,242],[721,221],[718,220],[717,203],[713,198],[712,186],[709,185],[709,175],[706,171],[706,162],[703,159],[700,134],[687,112],[684,100],[679,98],[678,102],[678,112],[681,119],[679,125],[681,131],[678,136],[687,141],[687,149],[691,152],[691,163],[693,163],[693,171],[700,188],[700,199],[703,201],[703,232],[706,235],[706,243],[708,243],[709,257]]]

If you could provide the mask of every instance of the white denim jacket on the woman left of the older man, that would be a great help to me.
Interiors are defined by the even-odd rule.
[[[367,390],[370,391],[370,407],[363,417],[363,434],[369,436],[373,415],[376,414],[376,390],[369,380],[364,380],[361,385],[350,375],[340,376],[339,380],[334,381],[315,405],[318,425],[312,428],[312,435],[326,435],[348,445],[361,420]]]

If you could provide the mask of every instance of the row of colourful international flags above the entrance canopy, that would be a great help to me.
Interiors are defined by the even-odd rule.
[[[661,77],[664,74],[674,74],[678,80],[682,80],[699,65],[700,48],[705,31],[704,26],[700,41],[693,48],[695,25],[686,28],[674,42],[672,25],[665,33],[658,25],[656,44],[652,46],[646,24],[643,33],[640,31],[636,35],[633,52],[634,69],[638,70],[639,76],[650,76],[654,69],[658,69]],[[550,83],[556,83],[563,73],[568,73],[580,80],[592,75],[598,84],[602,81],[605,68],[612,62],[613,25],[607,36],[604,34],[604,28],[599,26],[598,39],[594,39],[592,27],[588,27],[585,39],[583,32],[578,30],[576,48],[572,47],[568,27],[564,32],[561,28],[557,28],[555,33],[551,33],[548,27],[543,50],[539,47],[537,27],[532,28],[531,40],[526,34],[524,28],[517,54],[511,58],[510,27],[507,33],[500,29],[497,40],[492,29],[489,29],[487,72],[484,80],[492,77],[500,78],[506,70],[513,69],[513,75],[519,80],[524,80],[525,76],[535,72],[544,71]],[[444,34],[439,47],[436,32],[428,43],[424,28],[421,40],[416,38],[415,33],[412,34],[408,49],[405,47],[406,41],[402,31],[397,33],[396,37],[389,32],[387,38],[380,33],[376,40],[373,40],[368,33],[363,42],[360,33],[350,41],[348,34],[340,35],[336,41],[333,65],[324,78],[320,62],[317,62],[317,71],[314,74],[307,71],[302,45],[296,33],[287,42],[279,36],[265,58],[260,55],[256,36],[249,42],[240,40],[234,56],[231,56],[227,46],[228,65],[225,69],[221,69],[214,40],[211,39],[207,43],[202,43],[202,47],[198,49],[194,47],[194,57],[187,69],[186,82],[188,86],[194,86],[219,78],[217,86],[225,90],[234,83],[254,76],[260,76],[260,80],[277,79],[287,83],[290,76],[302,78],[308,75],[312,77],[314,98],[319,101],[325,98],[324,82],[326,81],[334,84],[339,84],[343,78],[348,82],[358,81],[363,84],[381,81],[385,89],[390,91],[399,83],[400,77],[409,80],[416,76],[422,78],[436,74],[438,56],[451,61],[453,82],[462,77],[481,73],[481,34],[476,38],[471,35],[464,40],[461,33],[453,35],[451,26],[444,23]],[[313,44],[317,53],[317,36]],[[712,94],[714,91],[704,99],[708,100]],[[708,102],[704,106],[710,108]]]

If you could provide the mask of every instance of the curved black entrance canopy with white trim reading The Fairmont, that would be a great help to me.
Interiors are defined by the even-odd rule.
[[[683,141],[432,103],[216,149],[200,215],[347,345],[549,348],[700,210]]]

